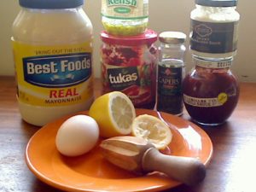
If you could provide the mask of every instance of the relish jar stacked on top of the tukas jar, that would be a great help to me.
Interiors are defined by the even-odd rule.
[[[102,24],[112,35],[142,34],[148,27],[148,0],[102,0]]]

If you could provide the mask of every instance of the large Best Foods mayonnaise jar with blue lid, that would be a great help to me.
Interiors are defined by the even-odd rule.
[[[22,119],[45,125],[90,108],[93,29],[84,0],[19,2],[11,39]]]

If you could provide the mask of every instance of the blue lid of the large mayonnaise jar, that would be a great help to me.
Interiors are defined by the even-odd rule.
[[[20,6],[29,9],[71,9],[84,4],[84,0],[19,0]]]

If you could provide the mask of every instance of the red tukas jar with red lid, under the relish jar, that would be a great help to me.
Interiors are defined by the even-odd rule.
[[[157,33],[152,30],[132,37],[101,33],[102,90],[118,90],[136,108],[154,108]]]

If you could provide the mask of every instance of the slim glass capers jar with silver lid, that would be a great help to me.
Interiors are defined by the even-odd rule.
[[[182,81],[185,73],[183,32],[161,32],[159,35],[159,63],[157,72],[158,111],[181,115],[183,113]]]

